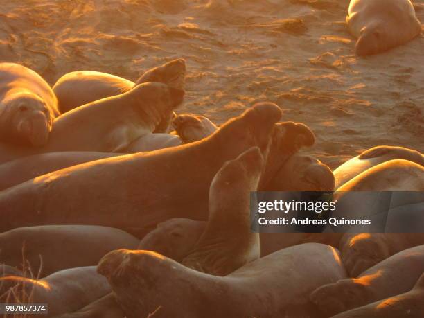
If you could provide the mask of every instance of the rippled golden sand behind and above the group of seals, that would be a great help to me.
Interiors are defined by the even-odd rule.
[[[374,145],[424,152],[424,39],[356,58],[348,0],[0,0],[0,58],[52,85],[64,73],[135,80],[188,64],[179,113],[217,123],[261,100],[317,134],[308,152],[332,167]],[[415,1],[424,21],[424,1]]]

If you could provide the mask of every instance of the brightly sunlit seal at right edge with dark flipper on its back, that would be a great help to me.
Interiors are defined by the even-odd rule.
[[[416,150],[380,145],[362,152],[359,156],[346,161],[333,171],[335,177],[335,188],[340,188],[365,170],[382,164],[383,162],[405,159],[424,166],[423,154]]]

